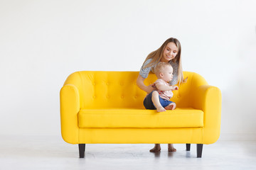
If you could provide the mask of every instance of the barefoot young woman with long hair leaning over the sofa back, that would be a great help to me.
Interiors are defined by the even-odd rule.
[[[182,64],[181,64],[181,43],[176,38],[167,39],[158,50],[151,52],[144,61],[142,68],[140,69],[139,76],[137,78],[137,86],[147,94],[156,90],[154,84],[146,86],[144,80],[148,77],[149,72],[154,72],[154,67],[159,62],[169,62],[174,69],[174,77],[170,81],[170,85],[178,84],[178,86],[186,82],[183,79]],[[155,144],[154,148],[150,152],[159,152],[161,150],[160,144]],[[174,145],[168,145],[169,152],[176,152]]]

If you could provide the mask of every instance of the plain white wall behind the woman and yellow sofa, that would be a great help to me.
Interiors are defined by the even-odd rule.
[[[60,135],[79,70],[139,70],[170,37],[223,94],[222,136],[256,138],[256,1],[0,1],[0,135]]]

